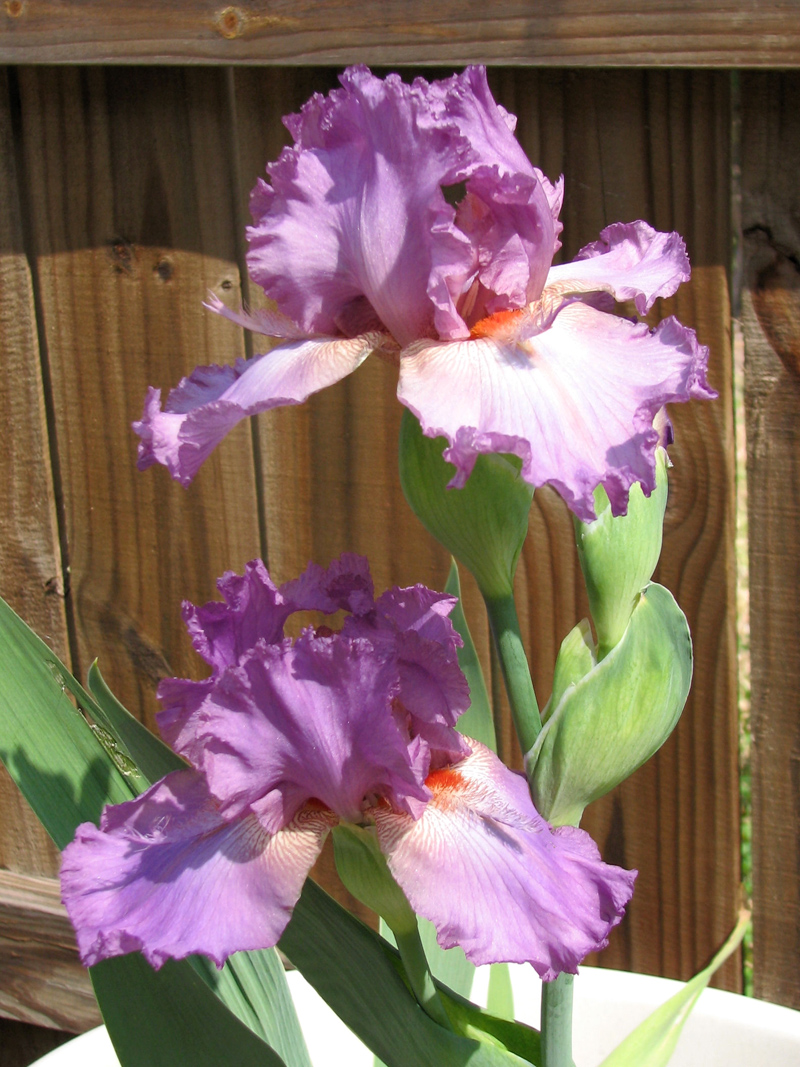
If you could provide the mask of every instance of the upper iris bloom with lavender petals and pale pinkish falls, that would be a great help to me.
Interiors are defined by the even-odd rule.
[[[690,273],[683,240],[618,223],[553,267],[562,181],[528,161],[482,67],[412,85],[351,67],[341,83],[285,120],[294,146],[253,190],[247,266],[275,309],[209,304],[284,344],[198,367],[164,411],[150,389],[140,467],[165,463],[187,484],[245,415],[300,403],[374,351],[399,364],[425,432],[447,437],[453,485],[480,452],[513,452],[580,519],[599,483],[624,513],[635,481],[655,485],[659,408],[715,396],[691,330],[609,314],[674,293]]]

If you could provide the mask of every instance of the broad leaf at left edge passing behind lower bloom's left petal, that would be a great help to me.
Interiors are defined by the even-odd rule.
[[[102,723],[103,735],[67,692]],[[111,726],[58,656],[0,601],[0,759],[60,848],[80,823],[99,822],[107,803],[130,800],[146,784],[130,769],[119,739],[109,737]],[[156,972],[132,954],[106,960],[90,974],[125,1067],[284,1064],[188,960]],[[307,1056],[295,1064],[304,1067]]]

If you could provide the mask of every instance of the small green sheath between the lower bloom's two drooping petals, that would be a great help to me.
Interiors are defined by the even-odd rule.
[[[333,831],[334,859],[345,888],[385,921],[395,934],[416,931],[417,917],[391,877],[374,831],[340,824]]]

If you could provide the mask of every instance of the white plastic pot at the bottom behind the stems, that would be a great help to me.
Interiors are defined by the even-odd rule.
[[[481,969],[485,971],[485,969]],[[539,1023],[541,984],[530,968],[512,967],[516,1016]],[[288,975],[315,1067],[372,1067],[372,1053],[334,1015],[298,971]],[[485,997],[479,970],[474,999]],[[574,1057],[577,1067],[603,1058],[681,983],[645,974],[581,968],[575,982]],[[800,1012],[706,989],[684,1028],[670,1067],[798,1067]],[[99,1026],[38,1060],[36,1067],[119,1067]],[[224,1065],[221,1065],[224,1067]]]

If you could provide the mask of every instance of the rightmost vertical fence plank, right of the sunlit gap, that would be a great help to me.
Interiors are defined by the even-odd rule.
[[[741,84],[755,996],[800,1008],[800,79]]]

